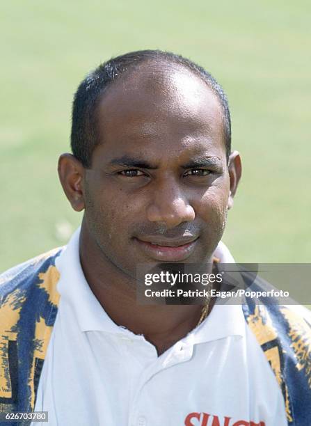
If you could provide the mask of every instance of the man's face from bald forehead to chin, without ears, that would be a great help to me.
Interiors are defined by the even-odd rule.
[[[85,220],[105,258],[130,276],[137,263],[208,261],[230,191],[212,91],[182,67],[144,63],[109,87],[97,125]]]

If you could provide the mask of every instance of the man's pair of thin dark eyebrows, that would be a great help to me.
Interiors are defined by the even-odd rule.
[[[157,170],[157,166],[154,164],[149,163],[148,161],[129,157],[127,155],[124,155],[120,158],[115,158],[110,161],[110,164],[116,165],[116,166],[126,166],[126,167],[139,167],[139,168],[146,168],[149,170]],[[190,161],[188,161],[186,164],[183,164],[182,168],[197,168],[197,167],[210,167],[210,166],[222,166],[222,161],[218,157],[208,157],[205,155],[200,155],[198,157],[194,157]]]

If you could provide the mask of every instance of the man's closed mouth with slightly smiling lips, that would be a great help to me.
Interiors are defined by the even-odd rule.
[[[193,253],[198,238],[164,239],[157,237],[134,238],[138,246],[154,260],[181,262]]]

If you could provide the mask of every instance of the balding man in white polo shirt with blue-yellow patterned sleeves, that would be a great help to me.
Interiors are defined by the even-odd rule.
[[[137,265],[234,262],[221,237],[241,159],[221,86],[181,56],[119,56],[80,84],[71,142],[58,171],[81,229],[1,277],[2,411],[309,425],[307,310],[136,301]]]

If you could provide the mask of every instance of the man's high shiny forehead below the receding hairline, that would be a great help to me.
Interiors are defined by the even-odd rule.
[[[125,151],[225,152],[221,105],[188,69],[151,61],[109,86],[97,108],[99,145]]]

